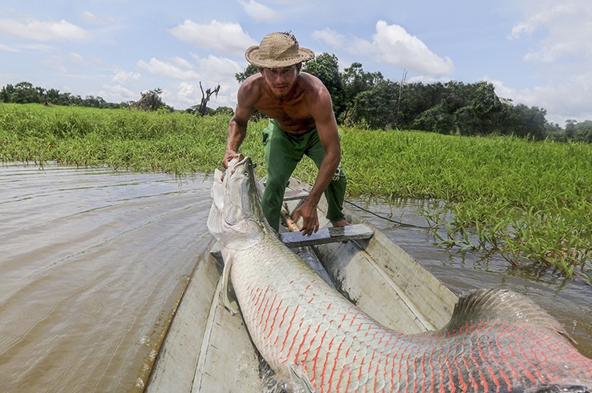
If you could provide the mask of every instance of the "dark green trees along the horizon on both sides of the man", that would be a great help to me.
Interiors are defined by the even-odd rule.
[[[361,63],[352,63],[343,72],[339,70],[334,54],[321,53],[303,66],[303,70],[316,75],[327,86],[337,122],[343,126],[363,130],[422,130],[446,135],[490,136],[508,135],[534,140],[585,141],[592,143],[592,121],[578,123],[568,120],[564,128],[549,123],[543,108],[514,105],[510,99],[497,96],[490,82],[463,83],[455,80],[424,85],[407,83],[406,73],[399,82],[385,79],[380,72],[366,72]],[[242,83],[258,73],[253,65],[236,73]],[[201,86],[199,105],[185,109],[195,115],[228,115],[232,108],[207,107],[210,96],[218,94],[220,86],[205,89]],[[161,89],[143,92],[137,102],[111,104],[101,97],[75,96],[46,90],[31,83],[20,82],[0,89],[0,102],[50,105],[76,105],[91,108],[140,108],[144,110],[168,109],[160,98]],[[255,111],[257,119],[264,116]]]

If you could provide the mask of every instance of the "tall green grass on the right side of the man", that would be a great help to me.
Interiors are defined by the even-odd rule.
[[[352,129],[342,143],[349,192],[439,201],[423,215],[441,243],[592,282],[590,144]]]

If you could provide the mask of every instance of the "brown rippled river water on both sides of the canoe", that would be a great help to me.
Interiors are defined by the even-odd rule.
[[[0,166],[2,391],[142,391],[197,256],[206,252],[210,186],[211,176],[202,174]],[[592,357],[591,286],[437,246],[421,228],[416,202],[352,202],[452,291],[525,293]]]

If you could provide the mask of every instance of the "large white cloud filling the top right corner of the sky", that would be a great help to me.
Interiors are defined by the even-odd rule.
[[[514,104],[544,108],[546,120],[592,118],[592,8],[589,0],[522,2],[523,17],[508,35],[532,46],[523,60],[535,65],[536,82],[513,89],[493,81],[499,96]],[[535,41],[536,39],[536,41]]]

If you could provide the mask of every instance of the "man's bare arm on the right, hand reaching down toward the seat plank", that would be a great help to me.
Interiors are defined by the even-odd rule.
[[[315,83],[314,94],[307,97],[307,105],[313,115],[318,137],[325,150],[325,156],[318,169],[317,179],[304,203],[294,211],[294,220],[303,218],[302,232],[310,236],[318,231],[317,205],[323,192],[333,179],[341,160],[341,146],[337,133],[337,121],[333,113],[333,103],[327,89],[320,82]]]

